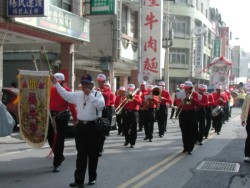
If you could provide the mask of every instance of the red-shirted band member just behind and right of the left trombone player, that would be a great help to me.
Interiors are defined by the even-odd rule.
[[[142,105],[140,106],[139,109],[139,128],[138,128],[138,132],[142,131],[144,124],[145,124],[145,110],[147,110],[145,107],[147,106],[146,103],[144,103],[144,95],[147,95],[148,91],[146,89],[146,82],[145,81],[141,81],[140,82],[140,90],[138,90],[137,95],[139,95],[142,99]]]

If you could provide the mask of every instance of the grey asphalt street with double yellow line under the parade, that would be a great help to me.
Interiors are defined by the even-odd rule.
[[[240,108],[223,125],[220,135],[211,130],[203,145],[196,145],[192,155],[183,154],[178,121],[168,120],[167,133],[158,136],[155,123],[153,142],[144,141],[138,132],[135,148],[124,147],[124,137],[111,131],[99,158],[97,182],[93,188],[247,188],[250,187],[250,163],[243,161],[245,128],[240,124]],[[59,173],[53,173],[48,144],[35,149],[20,139],[19,133],[0,138],[1,188],[62,188],[74,181],[76,149],[74,138],[65,142],[65,161]],[[222,168],[199,169],[203,162],[222,162]],[[229,164],[239,169],[230,171]]]

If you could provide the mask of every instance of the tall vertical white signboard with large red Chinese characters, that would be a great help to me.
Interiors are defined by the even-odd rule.
[[[162,0],[144,0],[142,2],[142,77],[161,79],[162,52]]]

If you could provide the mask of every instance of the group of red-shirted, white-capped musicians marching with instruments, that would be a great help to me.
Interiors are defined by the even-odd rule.
[[[194,145],[203,145],[203,139],[208,138],[212,129],[220,134],[223,116],[230,117],[226,105],[232,96],[228,93],[222,92],[221,86],[208,93],[205,84],[196,88],[190,81],[180,84],[171,97],[163,81],[155,86],[141,81],[138,89],[133,84],[129,84],[127,90],[121,86],[114,103],[118,135],[125,136],[124,146],[130,144],[133,148],[138,125],[139,131],[144,129],[143,140],[152,142],[154,123],[157,122],[159,137],[162,138],[167,131],[168,108],[172,108],[170,119],[173,123],[179,120],[183,153],[192,154]]]

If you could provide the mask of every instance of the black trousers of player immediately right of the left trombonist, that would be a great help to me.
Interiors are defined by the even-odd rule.
[[[152,139],[154,132],[155,109],[149,108],[148,110],[145,110],[144,119],[145,119],[144,130],[146,138]]]

